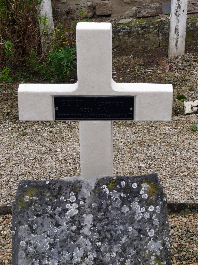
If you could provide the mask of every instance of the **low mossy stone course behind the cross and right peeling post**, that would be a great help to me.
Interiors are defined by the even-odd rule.
[[[125,19],[126,20],[126,19]],[[112,26],[113,48],[154,48],[168,47],[169,19],[146,21],[133,20],[129,23],[119,23]],[[198,41],[198,18],[187,19],[186,43]]]

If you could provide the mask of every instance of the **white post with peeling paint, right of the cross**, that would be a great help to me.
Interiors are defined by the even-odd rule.
[[[186,40],[187,0],[171,1],[168,58],[184,55]]]

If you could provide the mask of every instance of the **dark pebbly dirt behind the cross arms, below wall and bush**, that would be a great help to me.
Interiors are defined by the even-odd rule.
[[[120,83],[170,83],[173,85],[173,115],[183,114],[181,104],[176,97],[185,95],[186,101],[198,99],[198,43],[187,45],[184,56],[168,59],[168,48],[153,48],[148,50],[113,50],[113,79]],[[159,61],[163,65],[159,65]],[[165,71],[167,65],[171,68]],[[71,78],[69,83],[75,83]],[[27,83],[46,83],[39,76]],[[48,81],[49,82],[49,81]],[[63,81],[64,82],[64,81]],[[0,117],[18,120],[17,89],[19,83],[0,83],[0,99],[3,106]],[[183,104],[183,101],[182,101]],[[2,122],[2,121],[0,121]]]

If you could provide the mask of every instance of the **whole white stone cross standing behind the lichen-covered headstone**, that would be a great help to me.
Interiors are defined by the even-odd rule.
[[[78,23],[75,84],[20,84],[21,121],[54,121],[54,96],[134,96],[135,121],[170,121],[172,85],[112,79],[111,23]],[[112,121],[79,121],[81,176],[113,174]]]

